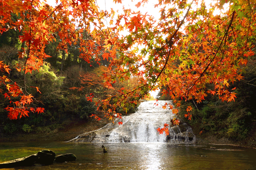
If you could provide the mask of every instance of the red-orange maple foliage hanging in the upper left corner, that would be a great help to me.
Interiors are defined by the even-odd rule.
[[[55,41],[56,33],[61,40],[58,45],[60,50],[67,52],[68,45],[79,41],[81,57],[85,61],[90,62],[91,58],[99,60],[98,53],[103,47],[96,47],[95,44],[100,36],[108,37],[109,34],[108,29],[101,29],[104,27],[101,20],[104,16],[111,17],[111,14],[100,11],[95,1],[61,0],[56,1],[56,6],[51,6],[40,0],[2,0],[0,4],[0,33],[11,29],[22,33],[19,40],[25,46],[19,53],[20,62],[15,67],[24,72],[24,77],[27,73],[32,73],[32,70],[39,71],[44,59],[50,57],[44,53],[44,48],[49,42]],[[18,19],[14,20],[12,15],[16,15]],[[72,18],[69,19],[69,16]],[[84,34],[84,30],[87,33]],[[44,108],[28,107],[35,99],[26,90],[25,78],[23,85],[12,82],[5,76],[6,72],[9,73],[9,66],[3,61],[0,65],[0,84],[5,85],[7,92],[4,96],[10,100],[10,105],[6,107],[8,117],[17,119],[18,115],[28,116],[28,112],[43,112]],[[40,92],[38,87],[36,89]]]

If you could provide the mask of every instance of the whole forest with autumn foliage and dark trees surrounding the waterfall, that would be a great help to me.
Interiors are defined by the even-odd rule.
[[[133,2],[138,11],[99,3],[0,2],[1,135],[57,133],[99,114],[122,124],[140,99],[172,100],[163,108],[176,118],[159,133],[183,119],[197,135],[256,134],[254,0],[155,0],[158,18],[140,11],[148,0]]]

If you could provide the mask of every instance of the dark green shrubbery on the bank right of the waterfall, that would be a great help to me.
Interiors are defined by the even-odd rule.
[[[248,137],[250,131],[254,128],[253,121],[255,114],[248,108],[248,101],[244,95],[240,94],[240,90],[236,90],[237,99],[231,102],[221,102],[216,97],[207,98],[207,102],[197,104],[197,108],[193,108],[192,121],[188,121],[190,125],[196,125],[199,131],[216,135],[217,137],[227,137],[232,140],[244,140]],[[186,113],[188,105],[192,102],[183,103],[180,114]]]

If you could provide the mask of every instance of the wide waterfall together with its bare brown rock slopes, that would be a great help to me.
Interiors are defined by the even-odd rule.
[[[123,125],[108,123],[101,129],[84,133],[68,142],[172,142],[194,143],[196,141],[192,129],[185,123],[172,127],[170,134],[158,134],[157,128],[172,119],[172,111],[163,109],[165,103],[171,101],[159,100],[144,101],[140,103],[138,111],[123,116]],[[157,103],[158,106],[154,105]],[[119,122],[119,121],[118,121]]]

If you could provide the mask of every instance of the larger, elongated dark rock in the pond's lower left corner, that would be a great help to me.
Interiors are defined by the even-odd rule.
[[[55,156],[56,155],[53,151],[42,150],[28,157],[0,163],[0,168],[10,168],[16,166],[50,165],[53,163]]]

